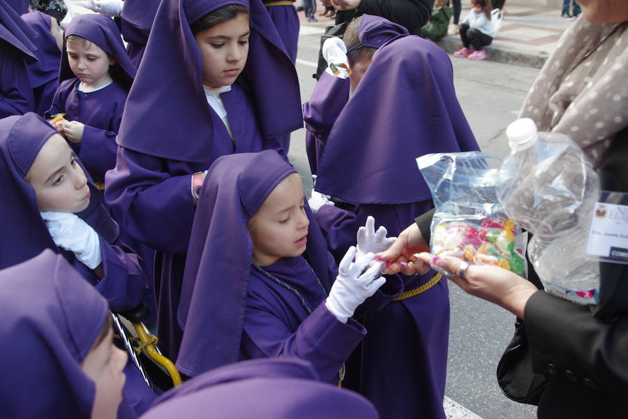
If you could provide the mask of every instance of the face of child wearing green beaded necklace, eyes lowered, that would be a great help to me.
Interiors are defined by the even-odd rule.
[[[285,177],[251,218],[253,260],[267,266],[306,250],[310,221],[297,173]]]

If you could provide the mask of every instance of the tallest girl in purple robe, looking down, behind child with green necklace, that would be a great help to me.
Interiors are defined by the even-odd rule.
[[[124,230],[157,251],[158,335],[169,358],[181,341],[176,311],[207,169],[227,154],[287,152],[301,119],[297,73],[260,0],[160,3],[105,197]]]

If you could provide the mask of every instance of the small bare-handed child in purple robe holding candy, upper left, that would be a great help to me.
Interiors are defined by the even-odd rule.
[[[116,163],[116,135],[128,89],[135,77],[120,31],[107,16],[75,17],[65,31],[59,88],[47,117],[84,163],[99,189]]]

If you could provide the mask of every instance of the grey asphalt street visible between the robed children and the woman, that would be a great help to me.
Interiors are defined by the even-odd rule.
[[[320,25],[301,26],[296,67],[303,102],[308,100],[315,84],[312,73],[322,31]],[[454,65],[458,100],[482,151],[505,156],[509,152],[506,127],[516,119],[539,70],[449,57]],[[304,129],[293,133],[290,160],[299,170],[309,193],[312,182],[304,138]],[[498,360],[514,332],[514,316],[491,303],[466,295],[452,283],[449,290],[451,325],[444,403],[448,418],[535,418],[534,406],[511,402],[502,395],[495,378]]]

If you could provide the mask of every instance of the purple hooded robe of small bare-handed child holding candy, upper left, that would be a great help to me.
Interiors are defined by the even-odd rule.
[[[59,88],[47,116],[65,112],[68,121],[85,124],[83,139],[77,145],[70,142],[77,155],[96,182],[105,181],[105,172],[116,165],[116,135],[122,119],[126,95],[135,77],[135,66],[128,58],[120,31],[105,15],[89,13],[75,17],[65,31],[65,37],[80,36],[91,41],[116,59],[110,66],[112,83],[96,91],[79,90],[80,80],[70,69],[66,42],[63,42]]]

